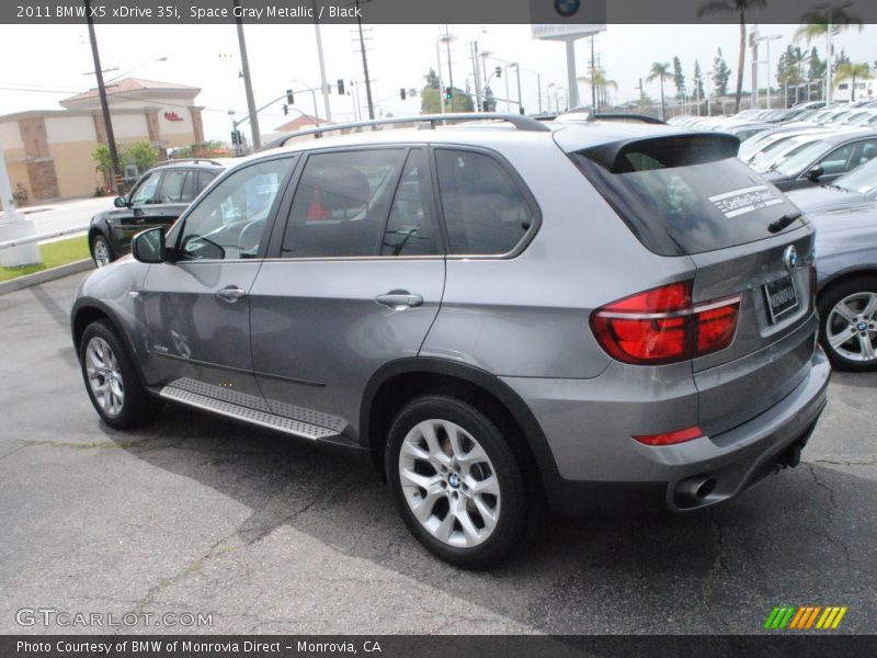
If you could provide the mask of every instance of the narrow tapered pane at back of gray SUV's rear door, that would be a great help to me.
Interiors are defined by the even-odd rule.
[[[406,161],[392,200],[381,256],[433,256],[441,252],[432,203],[426,152],[414,149]]]

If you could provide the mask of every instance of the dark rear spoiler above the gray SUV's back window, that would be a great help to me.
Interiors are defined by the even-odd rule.
[[[702,164],[737,157],[740,140],[727,133],[680,133],[657,137],[637,137],[592,146],[578,151],[612,173],[637,171],[631,154],[653,158],[663,168]]]

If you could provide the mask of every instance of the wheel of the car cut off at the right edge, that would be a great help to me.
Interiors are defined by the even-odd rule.
[[[838,370],[877,371],[877,277],[848,279],[820,295],[819,339]]]

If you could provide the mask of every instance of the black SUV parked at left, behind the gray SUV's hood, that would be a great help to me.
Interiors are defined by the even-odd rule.
[[[147,171],[113,209],[98,213],[89,227],[89,249],[102,268],[128,252],[130,239],[147,228],[169,227],[229,160],[170,160]]]

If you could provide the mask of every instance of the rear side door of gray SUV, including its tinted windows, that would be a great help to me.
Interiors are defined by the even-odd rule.
[[[250,295],[253,367],[272,412],[355,439],[369,377],[417,356],[442,299],[426,150],[312,152],[291,196]]]

